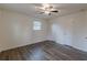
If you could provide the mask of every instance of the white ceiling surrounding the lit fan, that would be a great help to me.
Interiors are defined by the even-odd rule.
[[[51,17],[47,14],[40,14],[39,10],[35,9],[35,7],[41,7],[40,3],[0,3],[0,8],[24,13],[32,18],[37,18],[37,19],[39,18],[52,19],[55,17],[79,11],[80,9],[87,9],[86,3],[52,3],[52,4],[57,10],[59,10],[59,12],[53,13]]]

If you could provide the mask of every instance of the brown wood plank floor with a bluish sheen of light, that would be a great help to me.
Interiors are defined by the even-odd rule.
[[[87,53],[44,41],[0,53],[0,61],[87,61]]]

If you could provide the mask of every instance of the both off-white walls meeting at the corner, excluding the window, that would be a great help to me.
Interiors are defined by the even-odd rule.
[[[42,22],[41,31],[33,31],[34,20]],[[87,11],[45,21],[13,11],[0,10],[0,51],[44,40],[53,40],[87,51],[86,37]]]

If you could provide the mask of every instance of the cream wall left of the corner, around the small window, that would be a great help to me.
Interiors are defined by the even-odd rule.
[[[0,10],[0,51],[46,40],[46,22],[39,19],[42,22],[42,30],[34,33],[34,20],[35,18],[25,14]]]

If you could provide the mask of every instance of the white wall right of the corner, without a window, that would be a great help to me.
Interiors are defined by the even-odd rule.
[[[58,17],[50,21],[48,39],[87,52],[87,11]]]

